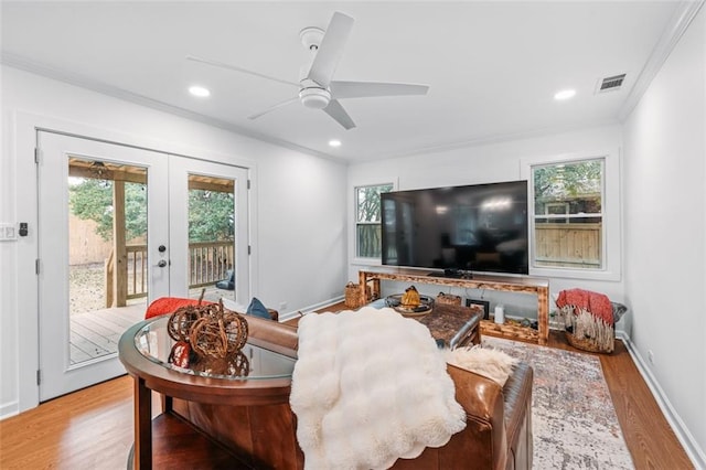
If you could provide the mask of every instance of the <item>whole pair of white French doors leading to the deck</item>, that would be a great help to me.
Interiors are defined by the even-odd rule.
[[[38,148],[40,400],[124,374],[118,340],[153,299],[247,298],[247,170],[50,131]]]

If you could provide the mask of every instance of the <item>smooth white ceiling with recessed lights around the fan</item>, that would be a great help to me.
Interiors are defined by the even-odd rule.
[[[666,55],[684,2],[2,2],[2,61],[221,127],[350,161],[618,122]],[[355,19],[334,79],[406,82],[426,96],[342,99],[356,128],[295,103],[306,26]],[[659,63],[657,63],[659,62]],[[600,78],[627,73],[621,90]],[[186,93],[211,89],[207,99]],[[633,87],[638,88],[631,94]],[[644,86],[644,84],[642,84]],[[575,88],[568,102],[555,92]],[[638,96],[639,97],[639,96]],[[333,149],[329,139],[343,145]]]

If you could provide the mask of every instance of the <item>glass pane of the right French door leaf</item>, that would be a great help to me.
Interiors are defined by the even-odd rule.
[[[235,298],[235,180],[189,174],[189,297]]]

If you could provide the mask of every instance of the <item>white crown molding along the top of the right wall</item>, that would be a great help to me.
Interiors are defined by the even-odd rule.
[[[682,35],[688,29],[688,25],[692,23],[705,2],[706,0],[680,1],[678,6],[674,10],[674,14],[672,14],[672,18],[670,19],[670,23],[666,25],[664,32],[660,36],[660,40],[654,45],[650,57],[645,62],[644,67],[642,67],[642,71],[640,71],[630,94],[618,113],[618,119],[620,119],[620,122],[624,122],[635,106],[638,106],[638,103],[642,99],[642,96],[662,68],[662,65],[664,65],[664,62],[666,62],[680,39],[682,39]]]

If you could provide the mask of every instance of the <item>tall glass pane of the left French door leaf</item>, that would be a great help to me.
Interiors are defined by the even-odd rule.
[[[71,366],[115,355],[147,299],[147,169],[68,158]]]

